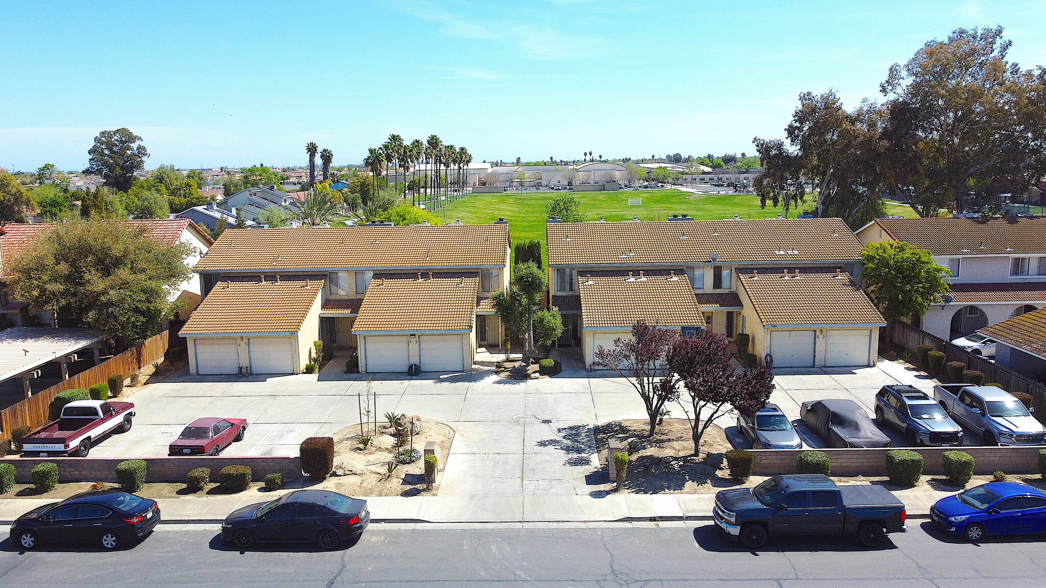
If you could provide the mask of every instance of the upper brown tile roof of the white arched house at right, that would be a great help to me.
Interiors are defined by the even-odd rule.
[[[934,255],[1046,253],[1046,217],[876,219],[894,239]]]

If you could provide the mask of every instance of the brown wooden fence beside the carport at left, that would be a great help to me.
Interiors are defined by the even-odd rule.
[[[167,332],[164,331],[65,382],[59,382],[46,390],[3,409],[0,411],[0,431],[2,431],[3,436],[9,437],[10,431],[15,427],[24,425],[35,429],[47,423],[50,417],[48,408],[59,392],[75,388],[89,388],[94,384],[105,384],[110,376],[117,374],[130,378],[132,374],[137,374],[142,367],[154,361],[162,361],[163,354],[167,350]]]

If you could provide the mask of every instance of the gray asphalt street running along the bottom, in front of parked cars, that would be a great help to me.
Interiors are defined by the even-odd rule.
[[[867,550],[849,538],[775,539],[758,551],[730,542],[705,522],[605,525],[374,524],[355,545],[260,546],[243,552],[214,527],[161,525],[116,552],[0,544],[0,586],[726,586],[959,587],[1041,586],[1046,538],[980,544],[953,541],[909,521]]]

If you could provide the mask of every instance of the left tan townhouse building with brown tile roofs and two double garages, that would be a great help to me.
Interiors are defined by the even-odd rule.
[[[190,371],[297,372],[317,340],[366,372],[467,369],[501,341],[508,256],[505,223],[227,229],[197,266]]]

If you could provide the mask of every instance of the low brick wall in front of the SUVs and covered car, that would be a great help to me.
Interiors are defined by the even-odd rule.
[[[940,454],[959,449],[974,456],[976,474],[1002,471],[1007,474],[1034,474],[1039,472],[1039,450],[1042,447],[940,447],[912,448],[926,460],[924,474],[939,475],[945,470]],[[794,474],[795,458],[802,450],[756,449],[752,473],[760,476]],[[886,452],[890,449],[819,449],[832,458],[832,475],[885,476]]]

